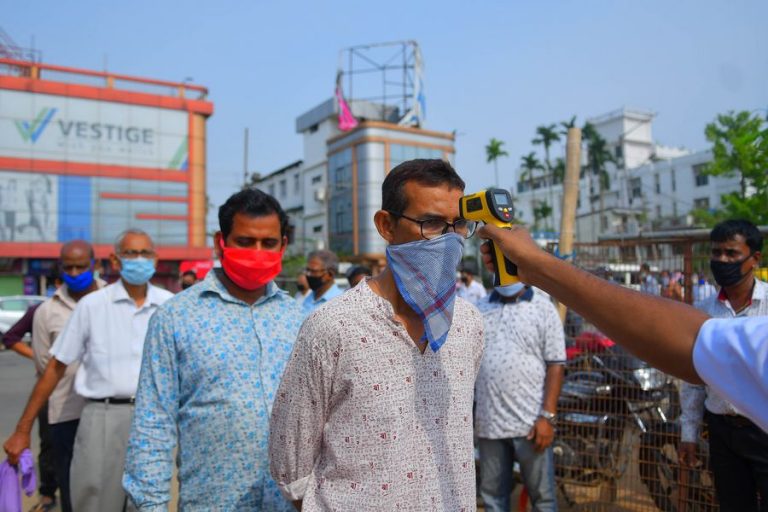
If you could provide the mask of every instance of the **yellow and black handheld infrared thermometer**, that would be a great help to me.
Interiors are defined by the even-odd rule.
[[[502,188],[489,188],[482,192],[464,196],[459,201],[459,214],[467,220],[482,221],[502,229],[512,228],[512,196]],[[496,276],[494,286],[506,286],[520,281],[517,278],[517,265],[504,257],[499,246],[490,242],[493,266]],[[500,262],[504,262],[500,265]]]

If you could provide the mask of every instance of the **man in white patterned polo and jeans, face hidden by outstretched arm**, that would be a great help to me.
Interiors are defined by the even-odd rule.
[[[523,283],[497,286],[478,304],[485,354],[475,383],[475,434],[485,510],[508,511],[520,464],[533,510],[557,510],[552,454],[565,335],[548,297]]]

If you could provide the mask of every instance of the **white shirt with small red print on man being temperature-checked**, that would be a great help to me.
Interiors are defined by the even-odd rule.
[[[272,409],[272,476],[302,510],[476,508],[476,308],[456,299],[445,344],[422,354],[361,282],[299,332]]]

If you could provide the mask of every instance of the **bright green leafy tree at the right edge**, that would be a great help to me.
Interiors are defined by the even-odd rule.
[[[694,211],[697,220],[713,225],[725,218],[768,224],[768,119],[750,112],[728,112],[709,123],[704,133],[712,143],[710,176],[739,178],[739,191],[721,198],[722,208]]]

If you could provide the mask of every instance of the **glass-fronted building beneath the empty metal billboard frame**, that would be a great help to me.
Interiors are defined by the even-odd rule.
[[[401,126],[396,108],[351,103],[356,128],[338,128],[338,104],[329,99],[296,119],[303,159],[255,185],[273,195],[293,226],[291,254],[330,249],[350,261],[379,265],[384,242],[373,225],[381,184],[399,163],[413,158],[453,162],[454,136]]]

